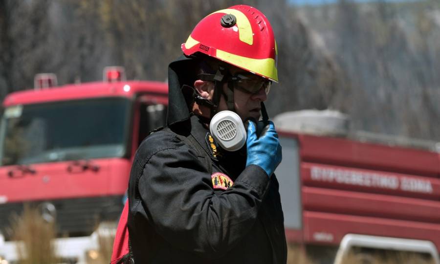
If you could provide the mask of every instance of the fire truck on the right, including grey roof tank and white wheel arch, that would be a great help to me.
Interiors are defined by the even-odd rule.
[[[330,126],[329,136],[322,112],[310,112],[275,117],[287,241],[318,263],[356,249],[416,252],[439,264],[440,143],[347,135],[344,126]]]

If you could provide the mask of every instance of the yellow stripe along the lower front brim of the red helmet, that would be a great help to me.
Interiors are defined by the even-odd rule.
[[[216,57],[232,65],[239,66],[248,71],[252,71],[266,78],[269,78],[274,82],[278,82],[277,67],[275,65],[275,60],[272,58],[252,59],[235,55],[220,49],[217,49]]]

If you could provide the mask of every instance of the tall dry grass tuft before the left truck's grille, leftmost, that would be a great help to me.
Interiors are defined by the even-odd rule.
[[[46,222],[35,207],[24,205],[22,215],[12,217],[13,238],[17,243],[19,264],[50,264],[56,262],[52,239],[56,237],[53,223]]]

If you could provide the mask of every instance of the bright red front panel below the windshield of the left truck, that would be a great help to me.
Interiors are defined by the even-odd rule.
[[[34,174],[22,174],[15,165],[0,167],[0,180],[4,184],[1,195],[7,202],[18,202],[124,194],[128,187],[130,160],[93,159],[90,165],[99,169],[83,170],[81,162],[75,164],[73,161],[32,164]]]

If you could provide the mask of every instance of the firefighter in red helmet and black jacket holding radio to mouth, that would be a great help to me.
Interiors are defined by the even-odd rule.
[[[281,146],[263,104],[278,81],[272,28],[235,5],[202,19],[181,49],[169,66],[167,129],[142,142],[132,166],[134,261],[286,263],[273,174]],[[216,134],[214,119],[232,124],[238,143]]]

